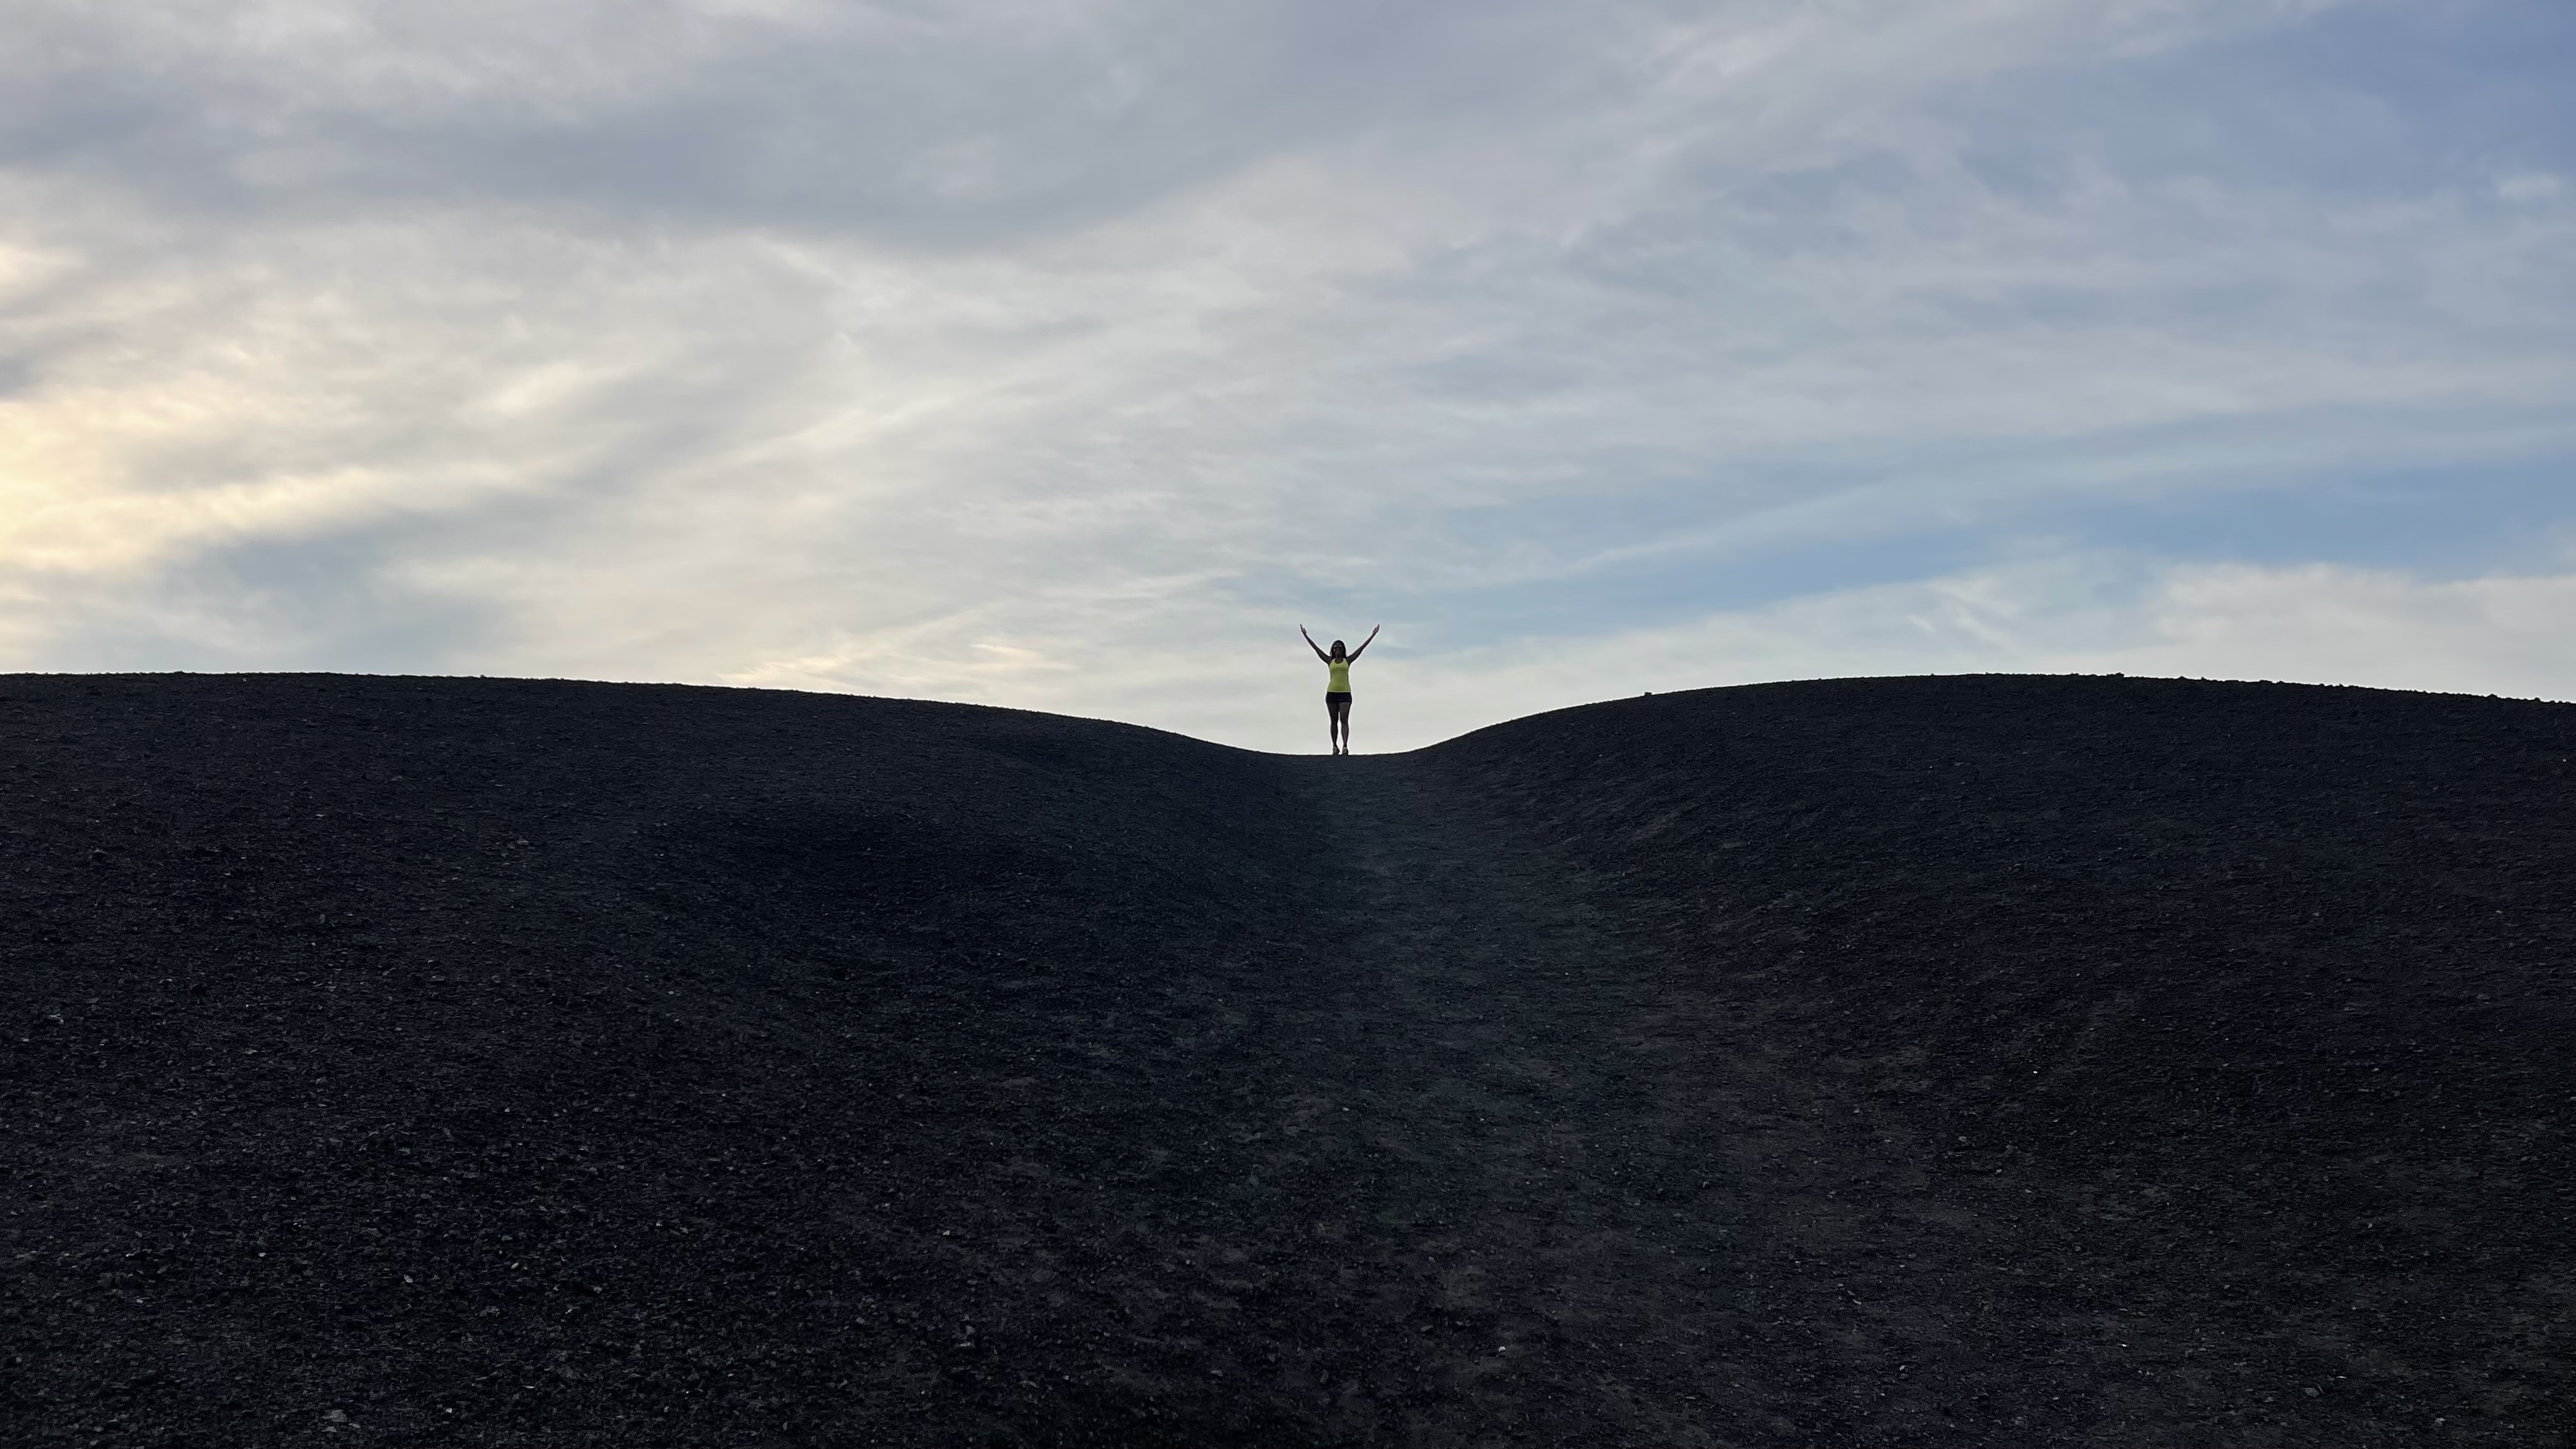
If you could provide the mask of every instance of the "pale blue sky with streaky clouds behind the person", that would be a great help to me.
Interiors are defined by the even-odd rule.
[[[0,8],[0,670],[2576,699],[2563,0]]]

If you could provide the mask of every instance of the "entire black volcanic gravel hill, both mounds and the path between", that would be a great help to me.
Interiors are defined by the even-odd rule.
[[[2571,758],[0,676],[0,1441],[2568,1444]]]

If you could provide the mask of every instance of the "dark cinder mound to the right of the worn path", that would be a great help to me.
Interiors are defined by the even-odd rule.
[[[1839,1382],[1801,1426],[2566,1444],[2571,755],[2563,704],[1917,678],[1427,763],[1584,871],[1659,1091],[1736,1083],[1710,1256],[1775,1276],[1718,1338]]]

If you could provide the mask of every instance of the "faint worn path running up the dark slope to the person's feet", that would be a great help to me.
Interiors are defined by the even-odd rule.
[[[1783,1434],[1922,1413],[1901,1385],[1960,1356],[1955,1325],[1855,1312],[1837,1261],[1955,1227],[1896,1209],[1909,1173],[1855,1150],[1834,1085],[1783,1080],[1592,882],[1427,761],[1296,773],[1350,882],[1316,928],[1347,962],[1319,1029],[1363,1116],[1352,1248],[1376,1318],[1432,1351],[1417,1392],[1504,1439],[1700,1444],[1749,1390]]]

